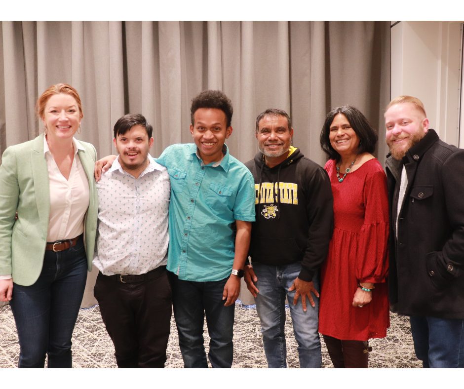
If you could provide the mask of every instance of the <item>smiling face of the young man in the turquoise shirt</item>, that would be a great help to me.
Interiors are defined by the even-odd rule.
[[[224,111],[217,108],[198,108],[193,114],[190,132],[203,163],[208,164],[221,160],[222,148],[232,134],[232,126],[227,126]]]

